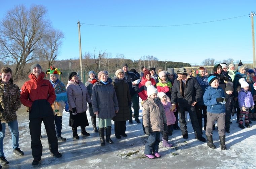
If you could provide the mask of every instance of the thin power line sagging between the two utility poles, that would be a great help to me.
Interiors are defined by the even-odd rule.
[[[234,18],[239,18],[239,17],[243,17],[243,16],[248,16],[248,14],[247,15],[242,15],[242,16],[226,18],[226,19],[212,20],[212,21],[207,21],[207,22],[187,23],[187,24],[178,24],[178,25],[160,25],[160,26],[121,26],[121,25],[101,25],[101,24],[90,24],[90,23],[80,23],[80,24],[81,25],[82,24],[93,25],[93,26],[107,26],[107,27],[171,27],[171,26],[185,26],[185,25],[193,25],[193,24],[218,22],[218,21],[222,21],[222,20],[234,19]]]

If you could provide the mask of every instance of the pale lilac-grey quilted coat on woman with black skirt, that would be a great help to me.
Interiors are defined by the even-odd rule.
[[[77,113],[86,112],[88,108],[86,102],[91,103],[92,100],[83,82],[80,81],[78,84],[74,81],[68,81],[66,91],[69,110],[72,111],[72,108],[76,108]]]

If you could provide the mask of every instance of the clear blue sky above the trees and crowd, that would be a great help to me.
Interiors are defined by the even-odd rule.
[[[204,59],[252,61],[252,30],[249,14],[256,11],[255,0],[12,0],[0,2],[0,19],[15,5],[44,5],[55,29],[64,35],[58,59],[79,58],[77,21],[88,24],[120,26],[162,26],[208,22],[167,27],[107,27],[82,24],[82,54],[106,51],[116,57],[138,60],[153,55],[158,60],[201,63]],[[255,23],[256,17],[254,17]],[[255,25],[256,26],[256,25]]]

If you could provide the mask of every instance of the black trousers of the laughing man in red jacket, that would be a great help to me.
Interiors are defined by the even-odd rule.
[[[50,152],[52,153],[58,152],[58,140],[56,137],[53,115],[42,117],[42,118],[32,118],[29,120],[30,120],[29,129],[30,129],[30,135],[31,135],[31,149],[32,149],[33,158],[34,159],[41,158],[42,152],[43,152],[43,147],[40,140],[42,121],[44,123],[45,130],[48,136],[48,145],[49,145]]]

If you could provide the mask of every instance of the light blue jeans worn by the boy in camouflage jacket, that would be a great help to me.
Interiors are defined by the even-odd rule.
[[[4,156],[4,148],[3,148],[3,139],[5,137],[5,123],[2,123],[3,129],[0,131],[0,157]],[[18,121],[14,120],[8,122],[8,126],[11,132],[11,139],[12,139],[12,148],[16,149],[19,148],[19,126]]]

